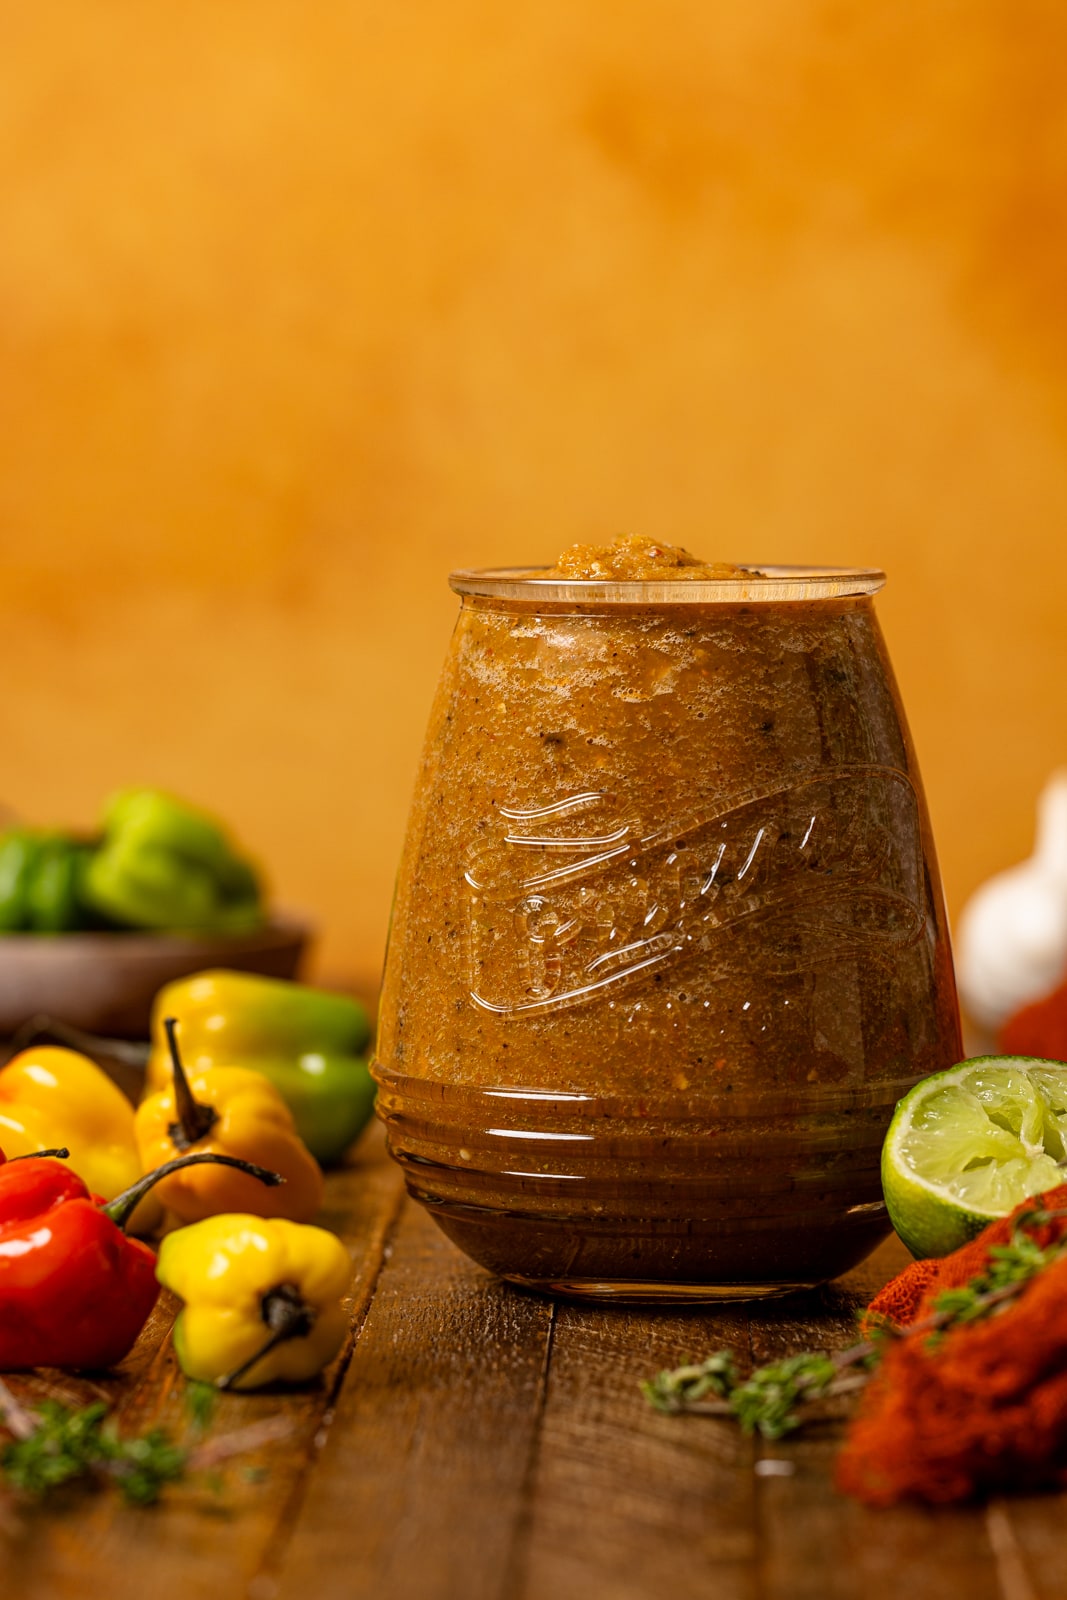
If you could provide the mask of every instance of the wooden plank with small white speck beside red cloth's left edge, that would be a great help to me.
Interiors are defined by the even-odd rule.
[[[753,1362],[853,1344],[854,1312],[909,1259],[891,1240],[835,1285],[760,1307],[752,1318]],[[833,1462],[841,1435],[837,1421],[758,1446],[757,1470],[768,1474],[758,1480],[763,1600],[870,1600],[886,1592],[909,1600],[947,1594],[1021,1600],[1001,1590],[981,1509],[872,1510],[838,1494]]]

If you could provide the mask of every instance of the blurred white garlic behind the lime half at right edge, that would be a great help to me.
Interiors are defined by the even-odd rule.
[[[1067,768],[1038,800],[1029,861],[982,883],[957,930],[960,998],[982,1027],[1040,1000],[1067,976]]]

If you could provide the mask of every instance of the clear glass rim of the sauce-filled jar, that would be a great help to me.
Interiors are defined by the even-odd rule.
[[[739,565],[736,578],[614,579],[545,578],[547,566],[461,568],[448,574],[458,595],[526,602],[608,602],[614,605],[741,605],[745,602],[845,600],[873,595],[886,581],[875,566]],[[672,568],[665,568],[672,571]]]

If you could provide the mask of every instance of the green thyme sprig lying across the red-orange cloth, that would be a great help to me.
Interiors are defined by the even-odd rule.
[[[1067,1254],[1067,1234],[1040,1245],[1027,1229],[1064,1216],[1067,1211],[1043,1206],[1021,1211],[1009,1243],[990,1248],[985,1270],[958,1290],[944,1290],[934,1301],[933,1314],[907,1328],[883,1320],[869,1330],[870,1338],[846,1350],[789,1355],[757,1366],[744,1379],[737,1374],[733,1352],[715,1350],[704,1362],[645,1379],[641,1394],[657,1411],[726,1416],[737,1421],[745,1434],[782,1438],[808,1419],[806,1406],[862,1389],[877,1370],[886,1341],[926,1336],[936,1342],[949,1328],[1003,1310],[1038,1272]]]

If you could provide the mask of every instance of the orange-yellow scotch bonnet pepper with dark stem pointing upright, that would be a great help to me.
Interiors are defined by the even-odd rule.
[[[144,1171],[176,1155],[211,1150],[254,1162],[283,1182],[266,1189],[229,1166],[190,1166],[157,1184],[155,1194],[182,1222],[250,1211],[306,1222],[322,1205],[323,1178],[301,1142],[293,1115],[267,1078],[243,1067],[213,1067],[186,1077],[178,1051],[174,1018],[166,1019],[174,1080],[150,1094],[134,1114],[134,1134]]]

